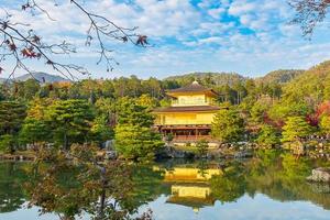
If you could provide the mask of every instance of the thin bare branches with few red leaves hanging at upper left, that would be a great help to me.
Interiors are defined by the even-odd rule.
[[[78,0],[68,1],[88,19],[89,28],[86,35],[86,46],[90,46],[91,44],[97,46],[99,58],[96,64],[105,64],[107,72],[112,70],[114,65],[119,65],[112,56],[113,51],[107,45],[108,41],[130,42],[142,47],[148,45],[147,36],[135,33],[138,30],[136,26],[131,29],[122,28],[106,16],[90,12]],[[54,7],[57,7],[56,2],[54,2]],[[44,13],[51,21],[55,21],[51,13],[41,7],[36,0],[26,0],[26,3],[21,8],[23,11],[30,11],[32,14]],[[77,50],[73,44],[66,41],[47,44],[33,30],[24,31],[26,26],[32,26],[31,24],[11,22],[11,18],[12,15],[7,11],[6,16],[0,18],[0,34],[2,34],[2,41],[0,41],[0,50],[2,50],[2,53],[0,52],[0,73],[4,69],[1,66],[3,61],[11,57],[15,61],[15,64],[12,72],[9,73],[9,78],[13,77],[18,69],[24,69],[33,76],[33,70],[25,64],[26,59],[43,61],[45,65],[51,66],[55,72],[69,79],[75,79],[76,74],[90,74],[82,66],[55,61],[54,55],[76,53]]]

